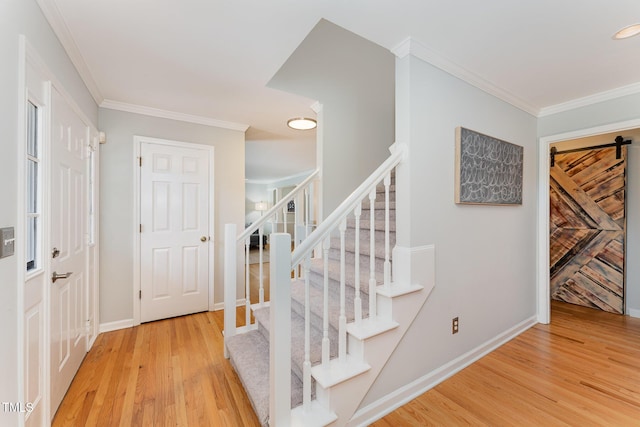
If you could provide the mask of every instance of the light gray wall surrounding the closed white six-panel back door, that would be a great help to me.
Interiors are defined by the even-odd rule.
[[[100,322],[133,318],[134,135],[215,147],[215,303],[224,299],[224,225],[244,227],[244,133],[100,109]],[[239,276],[241,277],[241,276]]]

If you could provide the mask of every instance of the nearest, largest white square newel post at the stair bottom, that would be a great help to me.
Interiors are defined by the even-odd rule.
[[[291,425],[291,236],[271,235],[269,424]]]

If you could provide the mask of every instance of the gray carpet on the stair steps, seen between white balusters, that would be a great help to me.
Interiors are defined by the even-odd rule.
[[[381,285],[384,279],[385,257],[385,194],[384,186],[376,189],[375,207],[375,270],[376,282]],[[395,245],[395,184],[389,187],[389,240],[390,247]],[[360,297],[362,317],[369,313],[369,276],[370,276],[370,218],[371,210],[368,198],[362,202],[360,217]],[[347,322],[354,320],[355,299],[355,219],[347,220],[345,232],[345,310]],[[340,315],[340,238],[331,238],[329,250],[329,339],[331,358],[338,352],[338,318]],[[324,260],[312,259],[310,267],[310,312],[311,312],[311,365],[320,363],[322,357],[321,340],[323,315]],[[291,407],[302,404],[302,365],[304,362],[304,280],[291,282]],[[257,329],[231,337],[227,342],[230,360],[251,400],[258,420],[264,426],[269,423],[269,306],[254,309]],[[312,384],[312,399],[315,396],[315,384]]]

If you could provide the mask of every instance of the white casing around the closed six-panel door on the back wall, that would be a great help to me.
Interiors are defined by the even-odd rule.
[[[214,299],[214,253],[215,253],[215,228],[214,228],[214,206],[215,206],[215,187],[214,187],[214,147],[211,145],[194,144],[191,142],[173,141],[168,139],[150,138],[146,136],[133,137],[133,326],[140,324],[140,151],[143,142],[151,142],[154,144],[169,145],[173,147],[192,148],[198,150],[206,150],[209,152],[209,301],[208,310],[213,311]],[[212,197],[213,196],[213,197]]]

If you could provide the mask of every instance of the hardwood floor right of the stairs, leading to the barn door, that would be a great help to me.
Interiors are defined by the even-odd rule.
[[[638,426],[640,319],[552,302],[536,325],[374,423]]]

